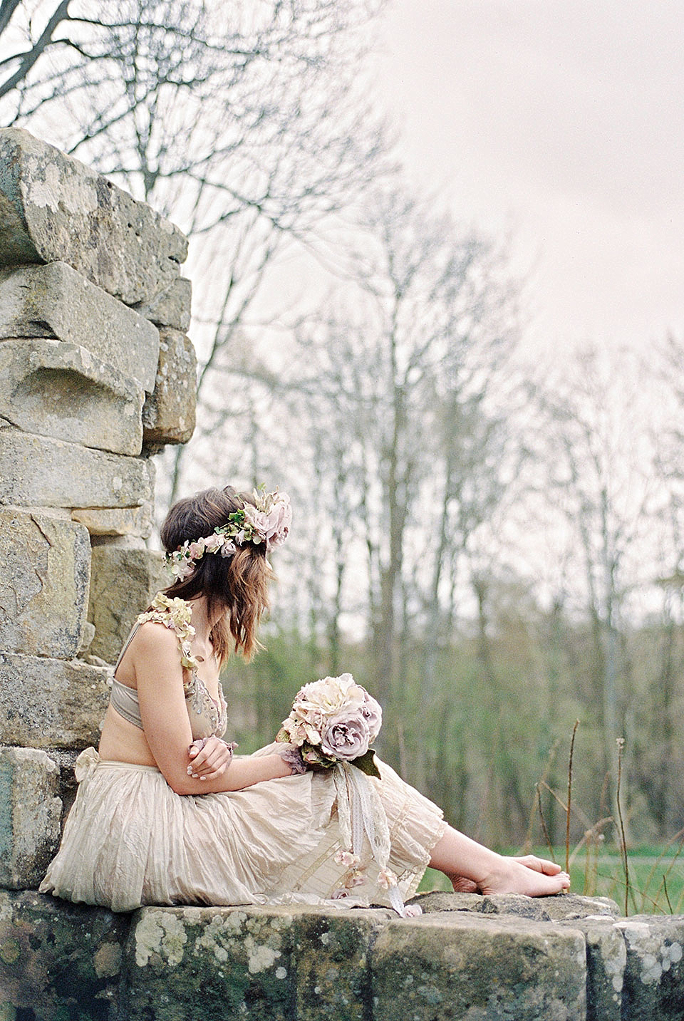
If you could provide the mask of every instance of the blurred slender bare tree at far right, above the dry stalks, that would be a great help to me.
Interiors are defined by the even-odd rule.
[[[591,633],[586,697],[597,710],[602,768],[614,783],[616,742],[634,711],[625,633],[652,553],[649,400],[638,359],[596,348],[580,352],[563,375],[549,374],[533,394],[538,418],[530,432],[543,465],[539,495],[563,516],[565,529],[556,535],[573,551],[573,595]]]

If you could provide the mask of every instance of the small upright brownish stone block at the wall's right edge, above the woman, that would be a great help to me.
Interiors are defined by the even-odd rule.
[[[143,407],[145,443],[187,443],[195,429],[197,358],[179,330],[159,330],[159,367]]]

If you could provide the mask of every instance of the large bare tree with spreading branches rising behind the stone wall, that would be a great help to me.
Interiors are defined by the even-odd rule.
[[[339,214],[386,172],[359,75],[381,7],[116,0],[94,18],[71,0],[5,95],[5,123],[120,180],[190,235],[198,428],[166,457],[170,499],[225,424],[253,421],[259,394],[287,389],[252,350],[284,311],[274,268],[296,254],[315,278],[339,262]],[[7,9],[14,63],[43,39],[45,10]]]

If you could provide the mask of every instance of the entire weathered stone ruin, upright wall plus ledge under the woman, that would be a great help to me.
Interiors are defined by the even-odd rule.
[[[164,581],[149,454],[194,425],[185,254],[149,206],[0,131],[0,1021],[681,1021],[684,918],[601,898],[432,893],[400,919],[35,892]]]

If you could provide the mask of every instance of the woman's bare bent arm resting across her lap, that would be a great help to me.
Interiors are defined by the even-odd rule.
[[[192,731],[178,638],[163,624],[148,622],[138,629],[132,645],[145,737],[154,761],[177,794],[241,790],[261,780],[290,776],[289,767],[278,755],[232,762],[222,776],[213,779],[189,776]]]

